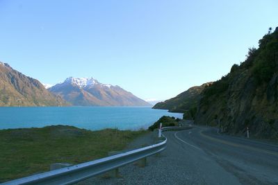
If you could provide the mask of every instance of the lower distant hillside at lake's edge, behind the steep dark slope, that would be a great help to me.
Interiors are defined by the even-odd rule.
[[[195,109],[201,98],[202,91],[210,84],[211,83],[204,83],[201,86],[191,87],[174,98],[157,103],[154,105],[153,109],[168,109],[170,112],[181,113],[184,113],[189,109]]]

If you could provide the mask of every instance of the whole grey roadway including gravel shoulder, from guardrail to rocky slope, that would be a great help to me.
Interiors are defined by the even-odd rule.
[[[278,147],[217,133],[214,128],[165,132],[167,149],[148,165],[120,168],[122,178],[83,184],[278,184]]]

